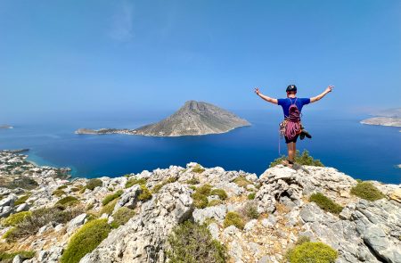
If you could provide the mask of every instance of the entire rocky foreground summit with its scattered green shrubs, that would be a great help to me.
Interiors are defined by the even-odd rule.
[[[4,262],[168,262],[188,221],[225,247],[212,262],[300,262],[289,253],[305,239],[330,246],[335,262],[401,262],[400,185],[335,168],[277,165],[258,177],[193,162],[66,180],[24,158],[0,158]],[[9,187],[16,172],[36,184]]]

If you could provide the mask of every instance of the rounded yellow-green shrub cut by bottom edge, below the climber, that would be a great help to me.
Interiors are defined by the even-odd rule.
[[[291,263],[333,263],[337,256],[337,251],[323,242],[303,242],[288,252],[287,259]]]

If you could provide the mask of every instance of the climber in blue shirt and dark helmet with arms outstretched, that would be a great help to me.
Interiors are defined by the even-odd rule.
[[[307,138],[312,138],[307,131],[302,127],[300,123],[300,112],[304,105],[309,103],[315,103],[321,100],[325,95],[331,93],[332,88],[334,86],[328,86],[322,94],[317,95],[312,98],[298,98],[297,95],[297,86],[290,85],[287,86],[287,98],[285,99],[274,99],[266,95],[262,95],[259,91],[259,88],[255,88],[255,93],[264,99],[268,103],[274,103],[282,106],[282,111],[284,113],[284,120],[280,123],[280,134],[284,136],[285,143],[287,144],[288,149],[288,160],[284,162],[284,164],[292,167],[295,160],[296,153],[296,144],[297,139],[300,136],[302,140],[305,136]]]

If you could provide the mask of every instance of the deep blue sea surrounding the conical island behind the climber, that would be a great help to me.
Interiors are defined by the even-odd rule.
[[[252,126],[221,135],[149,137],[75,135],[79,127],[139,127],[167,117],[171,112],[71,114],[37,117],[9,123],[0,129],[0,149],[29,148],[29,160],[39,165],[70,167],[74,177],[119,177],[144,169],[185,166],[190,161],[205,167],[244,170],[258,176],[279,156],[279,111],[234,111]],[[401,133],[399,127],[359,123],[366,115],[310,111],[303,123],[311,140],[299,141],[326,166],[349,176],[401,183]],[[282,153],[286,152],[282,141]]]

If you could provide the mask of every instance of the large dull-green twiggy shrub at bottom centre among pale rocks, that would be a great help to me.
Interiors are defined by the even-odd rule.
[[[171,263],[225,263],[226,248],[211,236],[206,225],[185,221],[168,235]]]

